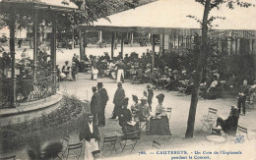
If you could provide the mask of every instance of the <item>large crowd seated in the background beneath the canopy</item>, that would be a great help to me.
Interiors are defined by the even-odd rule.
[[[153,52],[148,49],[141,57],[133,52],[130,55],[125,54],[124,57],[119,53],[117,57],[111,59],[108,53],[104,52],[104,56],[90,55],[89,58],[85,56],[84,60],[79,62],[78,56],[74,54],[72,61],[75,68],[67,69],[66,64],[61,71],[63,73],[61,80],[66,78],[76,80],[75,75],[78,71],[86,70],[91,71],[92,80],[97,80],[97,77],[108,77],[122,82],[131,80],[134,84],[150,82],[156,90],[163,88],[166,91],[180,91],[181,89],[184,90],[184,94],[192,93],[196,71],[190,71],[182,65],[175,67],[166,62],[169,61],[166,55],[160,54],[156,54],[155,68],[152,68],[152,55]],[[213,70],[209,73],[203,72],[202,77],[199,88],[199,95],[202,98],[216,99],[221,97],[224,89],[238,86],[238,80],[234,74],[225,78],[224,74]]]

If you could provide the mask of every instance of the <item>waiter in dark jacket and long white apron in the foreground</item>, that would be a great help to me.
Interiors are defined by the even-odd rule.
[[[79,139],[85,142],[85,159],[94,160],[93,151],[98,150],[99,133],[96,124],[93,122],[94,115],[88,114],[88,121],[84,118]]]

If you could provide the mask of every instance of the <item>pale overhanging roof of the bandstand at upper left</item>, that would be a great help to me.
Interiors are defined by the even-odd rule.
[[[33,7],[35,9],[72,12],[77,11],[78,6],[70,0],[0,0],[0,6],[15,6],[21,8]]]

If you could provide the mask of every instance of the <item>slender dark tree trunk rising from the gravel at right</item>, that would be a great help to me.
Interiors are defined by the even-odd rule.
[[[189,109],[189,115],[188,115],[188,121],[187,121],[187,131],[185,134],[186,138],[191,138],[194,135],[194,125],[195,125],[196,109],[197,109],[197,102],[198,102],[198,90],[199,90],[200,81],[202,77],[203,61],[207,51],[207,32],[208,32],[207,25],[208,25],[208,16],[210,12],[210,4],[211,4],[211,0],[206,0],[203,24],[202,24],[201,48],[200,48],[200,53],[198,55],[194,88],[191,95],[190,109]]]

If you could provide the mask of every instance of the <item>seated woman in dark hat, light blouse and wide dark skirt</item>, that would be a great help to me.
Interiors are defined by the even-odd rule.
[[[171,135],[169,131],[169,120],[162,105],[164,94],[157,95],[159,104],[156,108],[156,116],[151,119],[150,134]]]

